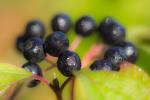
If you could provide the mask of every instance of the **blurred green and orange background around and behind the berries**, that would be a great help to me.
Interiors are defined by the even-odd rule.
[[[97,23],[105,16],[113,16],[127,29],[127,40],[134,42],[139,49],[137,65],[150,73],[150,0],[0,0],[0,62],[21,66],[26,60],[15,49],[16,37],[24,30],[31,19],[40,19],[51,32],[50,20],[60,12],[70,15],[75,22],[82,15],[91,15]],[[70,42],[75,38],[73,29],[68,33]],[[99,38],[97,34],[84,38],[76,52],[84,57]],[[147,40],[147,41],[145,41]],[[42,68],[49,64],[40,63]],[[46,77],[52,79],[57,73],[60,81],[65,78],[56,69]],[[69,88],[69,86],[68,86]],[[69,100],[69,92],[65,91],[64,100]],[[4,99],[4,98],[1,98]],[[55,100],[54,93],[44,84],[33,89],[23,88],[17,100]]]

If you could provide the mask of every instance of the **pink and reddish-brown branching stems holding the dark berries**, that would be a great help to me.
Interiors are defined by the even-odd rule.
[[[76,37],[69,49],[74,51],[78,47],[78,45],[80,44],[81,40],[82,40],[81,37],[79,37],[79,36]],[[82,61],[82,67],[87,66],[89,64],[89,62],[92,61],[92,59],[95,58],[97,55],[99,55],[99,53],[102,52],[102,50],[104,48],[105,48],[104,44],[94,44],[91,47],[91,49],[84,56],[83,61]],[[51,66],[46,68],[44,70],[44,73],[47,73],[52,68],[57,66],[56,63],[53,63],[53,62],[57,61],[56,57],[52,57],[52,56],[47,54],[45,60],[50,62]],[[62,100],[62,91],[65,88],[65,86],[67,85],[67,83],[72,80],[71,100],[73,100],[73,98],[74,98],[73,97],[73,94],[74,94],[73,93],[73,91],[74,91],[74,81],[75,81],[74,77],[69,77],[68,79],[66,79],[61,86],[59,86],[59,81],[57,80],[57,77],[54,78],[55,82],[53,80],[53,84],[51,84],[44,77],[41,77],[41,76],[38,76],[38,75],[32,75],[31,77],[45,83],[48,87],[50,87],[55,92],[57,100]]]

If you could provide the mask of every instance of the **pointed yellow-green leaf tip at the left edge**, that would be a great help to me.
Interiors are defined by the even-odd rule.
[[[29,77],[31,72],[14,65],[0,63],[0,93],[3,93],[13,82]]]

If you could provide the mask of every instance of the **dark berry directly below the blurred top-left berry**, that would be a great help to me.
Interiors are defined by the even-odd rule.
[[[24,57],[30,62],[40,62],[45,58],[43,47],[43,40],[41,38],[30,38],[24,44]]]

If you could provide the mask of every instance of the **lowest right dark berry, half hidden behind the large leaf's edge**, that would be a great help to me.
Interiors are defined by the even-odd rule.
[[[94,63],[90,66],[91,70],[112,70],[113,65],[108,60],[96,60]]]

